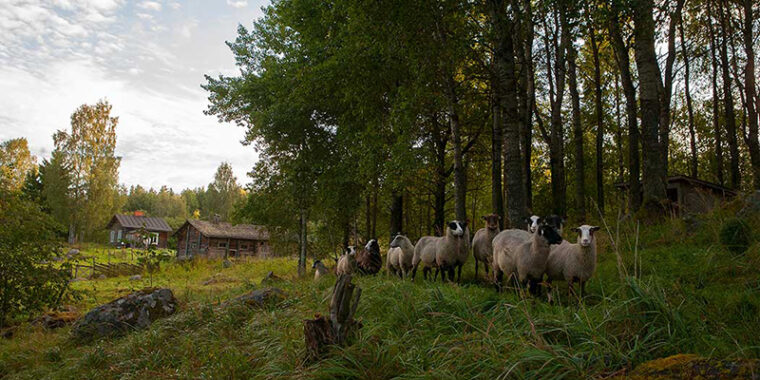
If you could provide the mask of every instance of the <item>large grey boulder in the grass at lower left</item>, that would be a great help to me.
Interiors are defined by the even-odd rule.
[[[177,299],[171,289],[144,289],[90,310],[76,322],[71,333],[80,341],[119,336],[146,328],[176,310]]]

